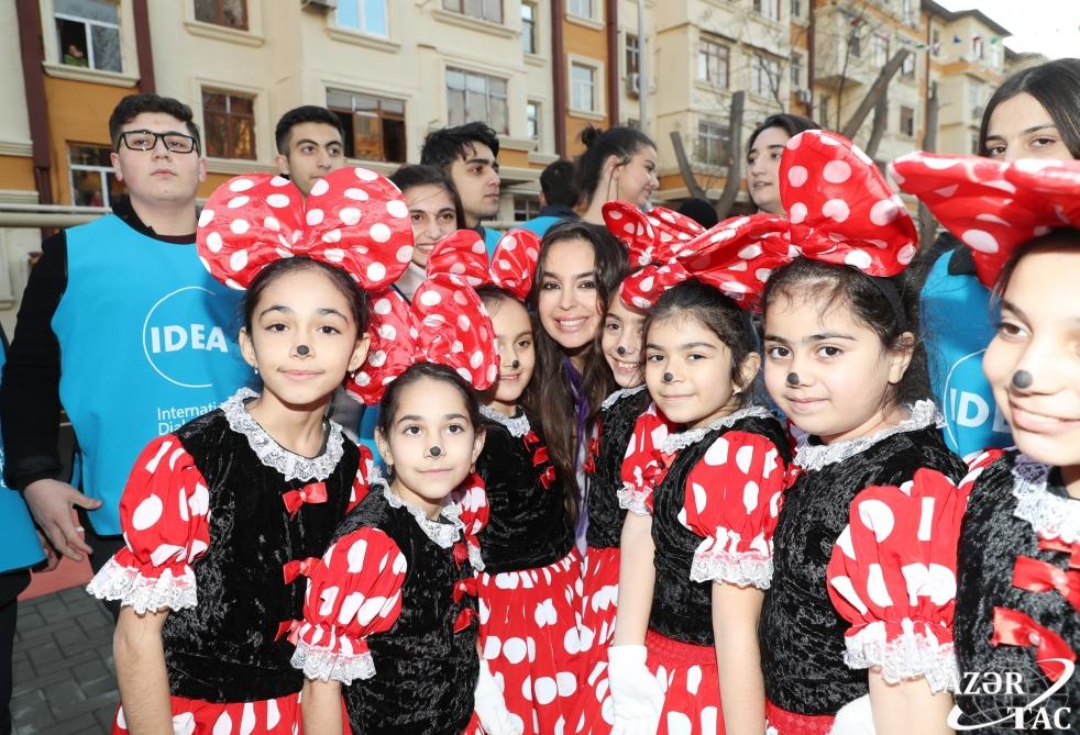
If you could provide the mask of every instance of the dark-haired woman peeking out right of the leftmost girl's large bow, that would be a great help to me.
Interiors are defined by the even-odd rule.
[[[389,176],[401,190],[412,222],[412,261],[394,283],[406,299],[411,299],[423,282],[423,269],[436,243],[465,226],[465,212],[458,189],[434,166],[401,166]]]

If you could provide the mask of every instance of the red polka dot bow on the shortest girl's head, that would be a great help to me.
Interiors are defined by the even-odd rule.
[[[483,258],[483,248],[475,233],[452,233],[432,249],[427,278],[411,305],[393,289],[373,297],[372,344],[367,361],[345,381],[350,393],[363,403],[376,403],[395,378],[425,361],[454,369],[476,390],[495,382],[495,327],[473,290],[475,276],[470,275],[475,272],[470,264]]]

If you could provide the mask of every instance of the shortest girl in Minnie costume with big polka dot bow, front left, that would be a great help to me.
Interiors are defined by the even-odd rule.
[[[474,391],[495,382],[498,353],[454,267],[474,242],[483,257],[471,232],[436,246],[411,307],[396,291],[375,301],[378,358],[353,389],[382,396],[375,438],[390,479],[373,482],[313,565],[293,626],[293,662],[310,680],[309,734],[342,732],[342,697],[353,733],[520,733],[477,656],[477,534],[488,508],[473,474],[485,441]]]

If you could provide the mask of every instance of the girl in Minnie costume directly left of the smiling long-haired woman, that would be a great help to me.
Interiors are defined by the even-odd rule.
[[[577,593],[581,556],[563,486],[543,436],[521,404],[536,366],[532,320],[524,301],[537,269],[540,241],[511,230],[491,267],[478,236],[453,260],[437,248],[429,269],[452,268],[477,285],[498,343],[498,380],[480,408],[487,439],[476,471],[487,490],[488,522],[477,534],[484,570],[476,577],[483,665],[498,679],[516,733],[566,727],[577,695]]]

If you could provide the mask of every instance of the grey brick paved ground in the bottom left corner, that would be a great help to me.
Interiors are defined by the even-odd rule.
[[[112,617],[81,587],[19,603],[14,735],[108,733],[117,712]]]

